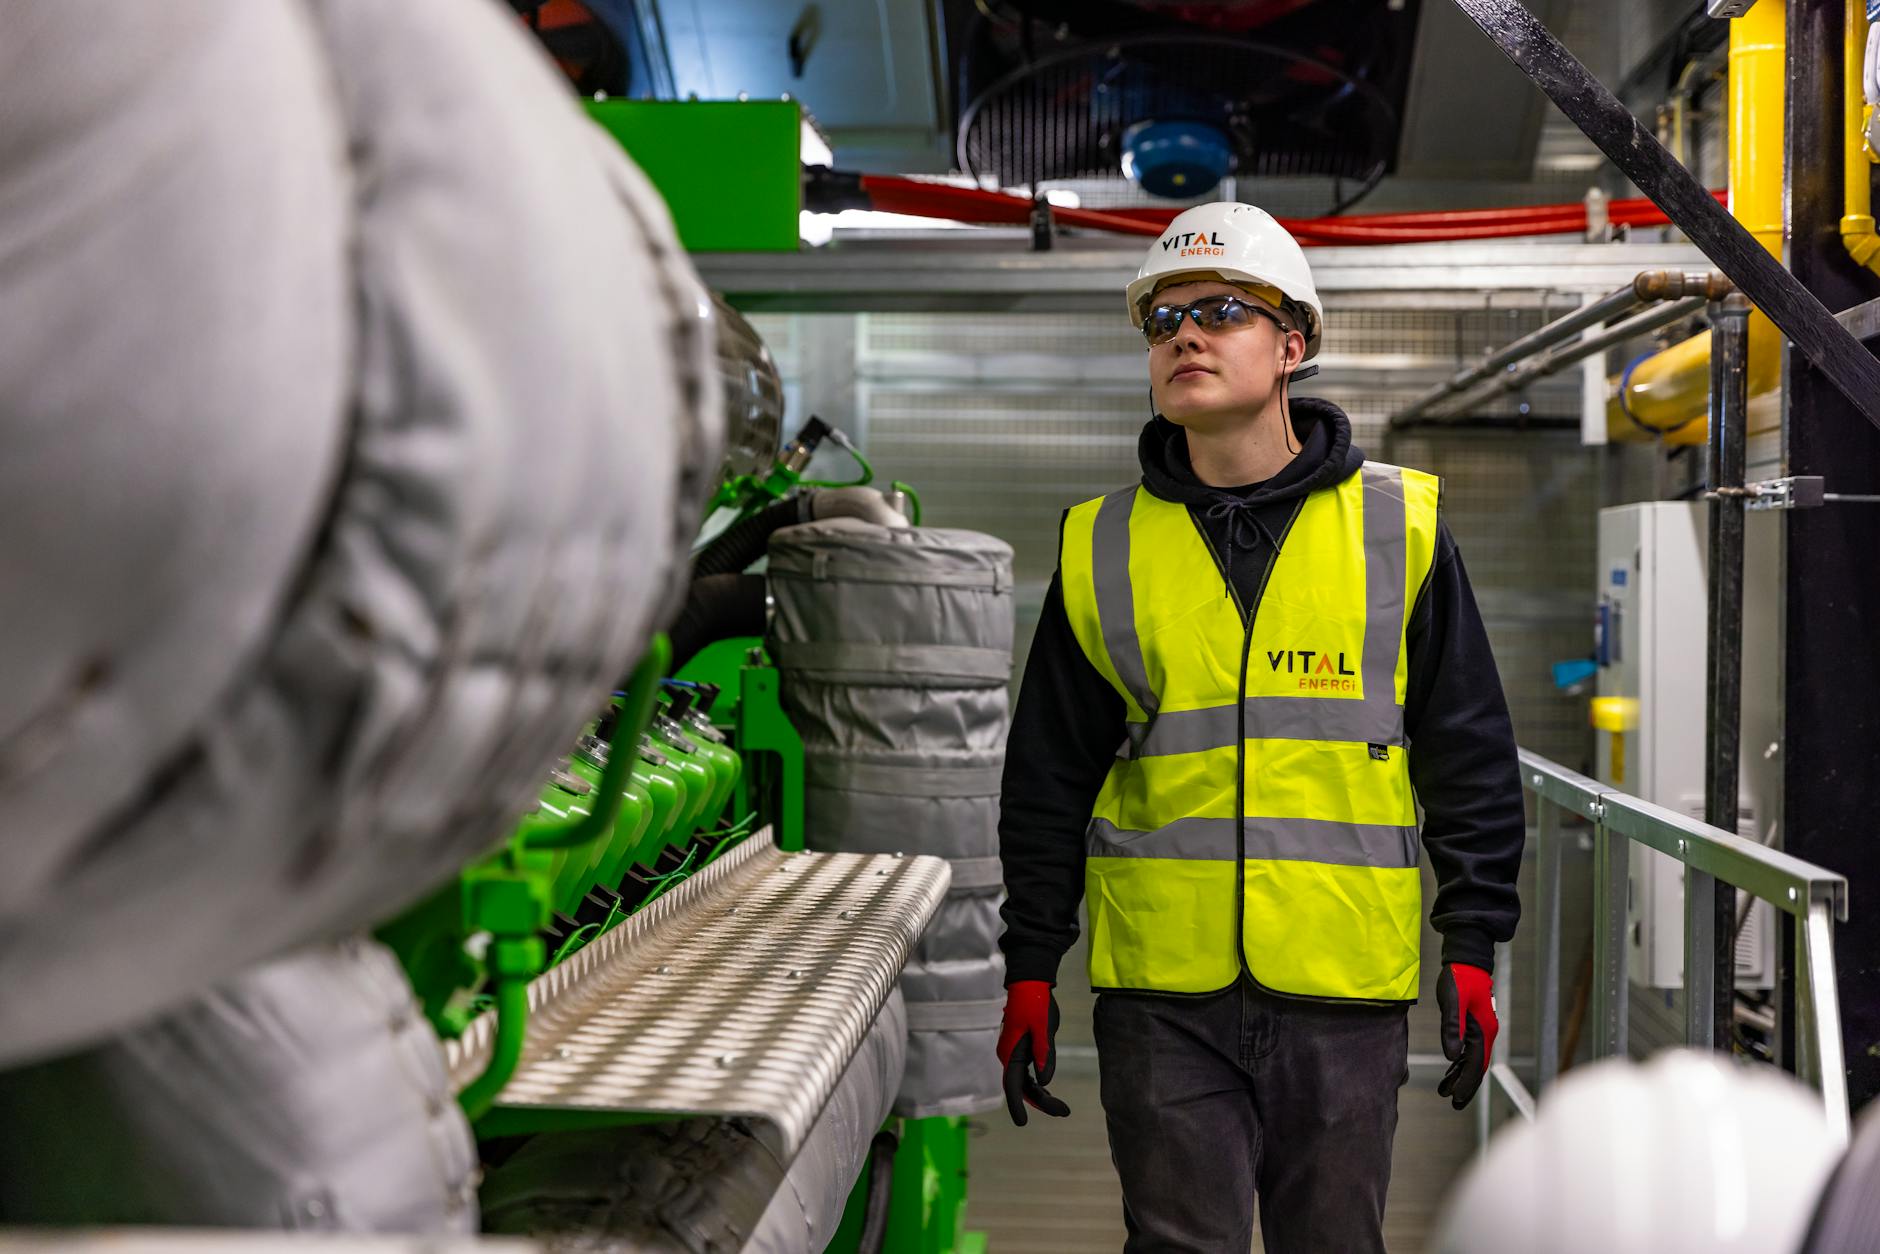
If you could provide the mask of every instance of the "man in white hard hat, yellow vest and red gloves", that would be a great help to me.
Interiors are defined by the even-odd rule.
[[[1068,1113],[1051,989],[1083,899],[1124,1248],[1245,1254],[1258,1198],[1269,1252],[1382,1250],[1418,807],[1461,1109],[1519,916],[1508,705],[1438,479],[1288,399],[1325,320],[1292,235],[1190,209],[1126,297],[1141,483],[1064,515],[1006,756],[1008,1104]]]

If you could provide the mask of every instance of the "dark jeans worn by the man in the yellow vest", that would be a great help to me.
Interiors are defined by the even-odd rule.
[[[1104,993],[1096,1049],[1126,1254],[1384,1250],[1406,1006]]]

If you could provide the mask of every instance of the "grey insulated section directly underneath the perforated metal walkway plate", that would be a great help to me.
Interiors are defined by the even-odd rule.
[[[489,1231],[575,1250],[803,1254],[842,1222],[908,1051],[889,993],[795,1158],[739,1119],[541,1134],[483,1184]]]

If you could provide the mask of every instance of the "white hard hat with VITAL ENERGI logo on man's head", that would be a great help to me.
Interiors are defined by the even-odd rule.
[[[1181,278],[1218,276],[1230,284],[1263,284],[1307,310],[1305,357],[1318,355],[1325,306],[1312,286],[1312,267],[1292,233],[1265,209],[1216,201],[1183,211],[1156,243],[1149,244],[1143,269],[1128,288],[1130,325],[1143,321],[1143,303],[1156,288]]]

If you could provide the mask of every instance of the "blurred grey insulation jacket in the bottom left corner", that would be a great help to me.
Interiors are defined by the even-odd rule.
[[[11,1224],[478,1230],[470,1124],[376,942],[274,959],[4,1072],[0,1126]]]

